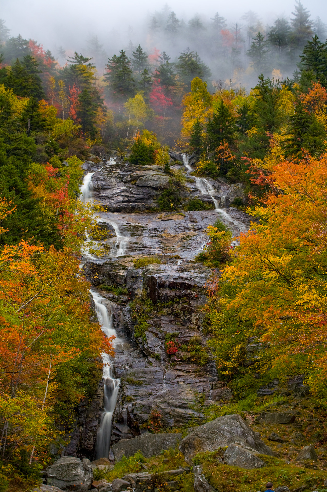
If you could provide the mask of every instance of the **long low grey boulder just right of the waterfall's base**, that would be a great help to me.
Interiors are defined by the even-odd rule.
[[[172,434],[150,434],[145,433],[134,437],[133,439],[122,439],[112,446],[112,452],[116,463],[123,458],[133,456],[136,451],[141,451],[145,458],[153,455],[159,455],[161,451],[175,448],[182,435],[179,433]]]

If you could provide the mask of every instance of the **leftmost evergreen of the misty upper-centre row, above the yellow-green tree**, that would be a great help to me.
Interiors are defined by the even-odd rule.
[[[124,50],[119,53],[119,57],[114,55],[108,59],[105,79],[109,83],[109,92],[115,99],[127,99],[135,95],[135,81],[130,69],[131,61]]]

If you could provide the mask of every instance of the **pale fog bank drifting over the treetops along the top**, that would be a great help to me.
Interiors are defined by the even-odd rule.
[[[42,44],[44,49],[50,49],[53,56],[62,65],[67,56],[74,51],[93,56],[99,74],[104,71],[104,63],[108,57],[125,49],[131,56],[131,50],[138,44],[148,54],[166,51],[172,62],[176,61],[179,53],[187,47],[198,52],[201,59],[210,67],[212,79],[223,78],[233,80],[233,84],[243,84],[249,87],[257,73],[249,71],[247,50],[252,42],[254,31],[249,31],[250,24],[257,32],[259,29],[267,37],[269,28],[277,18],[287,21],[292,18],[295,0],[275,0],[263,3],[261,0],[251,0],[245,3],[241,0],[233,2],[191,0],[188,2],[154,3],[151,0],[142,1],[101,1],[101,0],[6,0],[2,4],[0,17],[5,20],[11,30],[10,35],[32,38]],[[311,20],[320,16],[322,22],[327,22],[326,0],[303,0],[308,8]],[[166,30],[167,17],[174,11],[180,21],[180,29],[172,35]],[[240,29],[239,46],[236,47],[237,57],[231,60],[222,53],[224,43],[218,43],[212,34],[212,18],[216,12],[226,18],[226,29]],[[249,11],[250,20],[249,20]],[[248,12],[248,16],[245,13]],[[158,22],[156,29],[151,29],[151,19]],[[198,19],[201,28],[192,29],[189,21]],[[326,33],[327,35],[327,33]],[[324,39],[326,38],[324,35]],[[65,56],[59,55],[60,47],[65,50]],[[272,69],[278,73],[292,76],[299,62],[296,58],[285,58],[284,54],[271,54],[274,60],[266,70],[270,75]],[[256,70],[258,71],[258,70]],[[261,71],[261,70],[260,70]]]

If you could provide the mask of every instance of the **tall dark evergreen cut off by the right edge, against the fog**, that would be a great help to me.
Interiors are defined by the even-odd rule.
[[[300,56],[299,65],[301,72],[312,71],[321,85],[326,87],[327,83],[327,42],[321,43],[317,34],[312,41],[307,41]],[[303,74],[304,75],[304,74]]]

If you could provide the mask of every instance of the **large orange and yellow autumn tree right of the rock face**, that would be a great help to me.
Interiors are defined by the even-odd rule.
[[[280,193],[255,207],[260,223],[241,235],[233,263],[210,285],[211,348],[240,395],[300,373],[325,397],[327,154],[281,159],[271,179]]]

